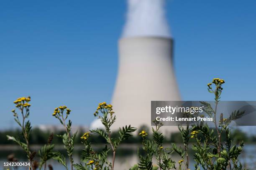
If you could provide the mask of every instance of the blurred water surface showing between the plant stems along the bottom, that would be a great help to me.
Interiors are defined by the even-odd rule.
[[[103,147],[104,145],[102,145]],[[100,148],[101,146],[96,146],[95,148]],[[117,150],[117,155],[116,155],[116,159],[115,159],[115,169],[116,170],[128,170],[129,168],[131,168],[134,164],[138,163],[138,155],[137,155],[137,150],[138,147],[141,148],[141,145],[122,145],[118,150]],[[164,148],[168,148],[170,147],[170,145],[164,145]],[[33,146],[32,150],[38,150],[38,148],[40,148],[40,146]],[[58,150],[61,150],[61,153],[65,154],[65,150],[62,150],[61,146],[56,147],[58,148]],[[80,153],[82,150],[82,146],[76,147],[74,150],[74,162],[75,163],[79,163],[80,161]],[[191,151],[192,152],[192,151]],[[17,158],[19,161],[26,161],[26,154],[20,150],[20,148],[17,147],[13,147],[13,146],[6,146],[6,147],[0,147],[0,169],[4,170],[3,168],[3,162],[7,160],[7,156],[10,154],[15,154],[15,158]],[[189,168],[191,170],[194,170],[194,163],[195,161],[192,158],[193,153],[191,155],[189,155]],[[36,160],[38,160],[38,158],[35,158]],[[70,167],[69,165],[69,161],[68,158],[67,159],[67,163],[68,163],[68,167]],[[111,160],[111,156],[110,158],[108,158],[109,160]],[[179,157],[179,155],[177,154],[172,154],[172,159],[176,162],[178,162],[181,158]],[[239,160],[247,166],[248,169],[256,169],[256,145],[245,145],[243,148],[243,152],[240,155]],[[49,160],[47,161],[47,164],[51,164],[54,168],[54,170],[64,170],[64,167],[62,165],[60,165],[56,160]],[[156,162],[154,161],[154,164],[156,164]],[[178,167],[178,164],[177,166]],[[19,168],[18,170],[23,170],[25,168]],[[42,168],[43,169],[43,168]],[[69,168],[70,169],[70,168]]]

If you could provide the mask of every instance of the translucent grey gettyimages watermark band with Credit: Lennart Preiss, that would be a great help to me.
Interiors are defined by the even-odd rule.
[[[220,101],[215,106],[215,101],[151,101],[151,125],[156,120],[166,126],[214,126],[216,116],[232,121],[231,126],[256,126],[256,101]]]

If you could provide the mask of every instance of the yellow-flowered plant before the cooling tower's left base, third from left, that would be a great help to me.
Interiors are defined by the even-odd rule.
[[[102,102],[98,105],[94,116],[100,119],[105,129],[96,129],[90,131],[90,133],[102,136],[110,145],[110,148],[105,145],[105,148],[103,148],[100,152],[96,152],[93,150],[91,143],[88,140],[88,138],[90,138],[90,133],[84,133],[84,135],[81,137],[82,143],[85,145],[85,149],[82,152],[82,162],[84,162],[84,165],[81,163],[76,164],[75,167],[77,170],[114,170],[115,154],[118,145],[123,140],[130,138],[132,136],[131,133],[133,133],[136,128],[131,127],[131,125],[126,125],[123,128],[119,128],[119,137],[112,138],[111,126],[116,120],[114,115],[115,112],[113,111],[112,107],[112,105],[108,105],[106,102]],[[107,161],[107,156],[110,150],[113,153],[113,159],[111,163]]]

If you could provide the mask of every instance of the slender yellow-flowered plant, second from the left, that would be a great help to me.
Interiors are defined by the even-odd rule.
[[[67,121],[67,118],[68,118],[70,112],[71,112],[71,110],[69,108],[67,108],[67,106],[59,106],[54,109],[54,113],[52,115],[54,117],[56,117],[61,122],[61,125],[63,125],[66,130],[66,133],[64,133],[64,135],[57,135],[57,136],[62,138],[64,148],[67,150],[67,155],[69,156],[71,170],[73,170],[74,139],[77,135],[77,132],[74,133],[73,135],[71,135],[72,122],[71,122],[71,120]],[[64,167],[66,169],[68,169],[66,160],[61,153],[55,153],[53,158],[58,160],[59,163],[61,163],[62,165],[64,165]]]

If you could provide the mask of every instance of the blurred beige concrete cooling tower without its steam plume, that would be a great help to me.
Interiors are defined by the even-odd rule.
[[[112,100],[117,116],[114,129],[126,124],[150,127],[151,100],[180,100],[172,47],[171,38],[120,39],[118,77]]]

